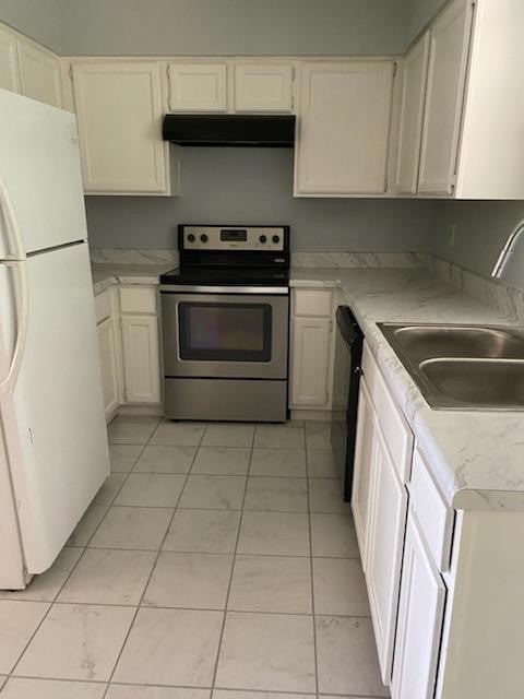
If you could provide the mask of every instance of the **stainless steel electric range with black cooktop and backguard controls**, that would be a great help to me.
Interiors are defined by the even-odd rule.
[[[289,227],[180,225],[178,244],[160,276],[166,417],[284,422]]]

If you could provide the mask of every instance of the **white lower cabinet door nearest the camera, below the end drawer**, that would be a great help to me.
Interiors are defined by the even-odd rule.
[[[392,699],[432,699],[445,587],[409,513],[391,683]]]

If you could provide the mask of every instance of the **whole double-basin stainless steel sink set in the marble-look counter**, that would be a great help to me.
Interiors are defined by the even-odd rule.
[[[426,401],[445,410],[524,410],[524,330],[379,323]]]

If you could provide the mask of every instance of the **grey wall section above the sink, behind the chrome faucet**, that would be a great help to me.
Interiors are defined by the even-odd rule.
[[[524,220],[524,202],[450,201],[437,204],[431,251],[472,272],[489,276],[510,232]],[[456,224],[455,245],[449,227]],[[524,240],[516,249],[504,282],[524,288]]]

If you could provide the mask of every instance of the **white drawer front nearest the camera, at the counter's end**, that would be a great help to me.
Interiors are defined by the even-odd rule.
[[[418,449],[413,455],[412,481],[408,488],[409,501],[428,549],[439,570],[445,571],[450,565],[454,511],[445,505]]]

